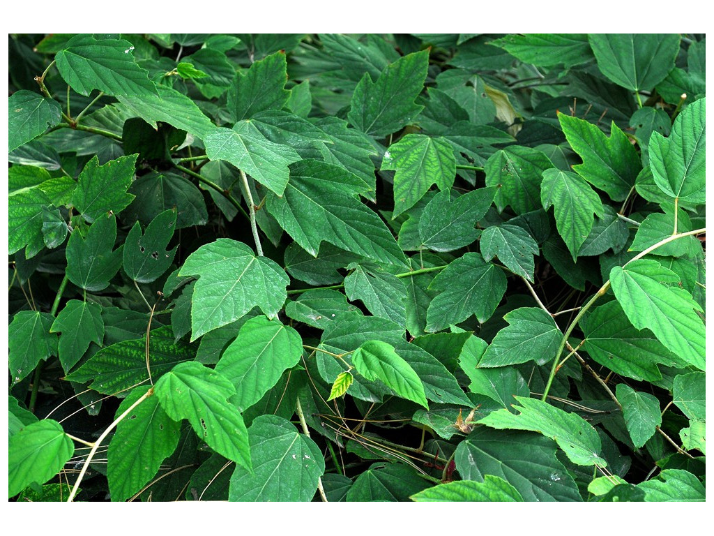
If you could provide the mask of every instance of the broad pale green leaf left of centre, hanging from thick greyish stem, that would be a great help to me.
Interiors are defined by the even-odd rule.
[[[277,316],[288,295],[290,279],[267,257],[228,238],[203,245],[183,263],[180,276],[198,276],[191,298],[191,341],[239,319],[253,307]]]

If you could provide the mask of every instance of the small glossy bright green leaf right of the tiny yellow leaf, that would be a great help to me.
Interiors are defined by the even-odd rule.
[[[424,385],[408,362],[386,342],[371,340],[361,344],[352,354],[357,372],[370,380],[379,379],[400,397],[429,409]]]

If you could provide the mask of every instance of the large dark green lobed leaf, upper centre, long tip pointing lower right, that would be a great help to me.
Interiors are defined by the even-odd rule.
[[[306,252],[320,243],[368,259],[404,266],[401,248],[384,222],[358,199],[368,185],[345,170],[308,159],[290,167],[283,197],[268,193],[267,209]]]

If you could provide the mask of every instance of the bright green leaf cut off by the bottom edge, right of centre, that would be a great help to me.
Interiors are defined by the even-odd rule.
[[[523,497],[501,477],[486,475],[483,482],[457,480],[415,493],[414,502],[520,502]]]

